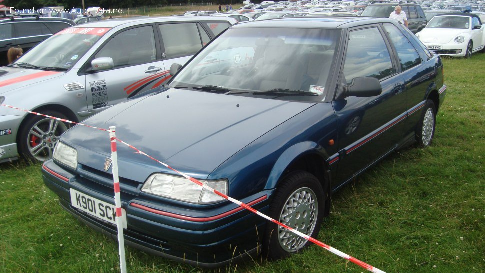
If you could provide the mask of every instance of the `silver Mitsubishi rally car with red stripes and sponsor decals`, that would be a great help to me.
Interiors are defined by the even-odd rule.
[[[116,19],[66,28],[0,68],[0,104],[79,122],[170,78],[237,22],[225,17]],[[0,163],[52,157],[67,125],[0,106]]]

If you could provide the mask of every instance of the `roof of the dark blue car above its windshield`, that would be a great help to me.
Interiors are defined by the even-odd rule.
[[[278,18],[272,20],[260,20],[241,23],[232,26],[232,28],[240,27],[281,27],[281,28],[348,28],[365,24],[390,22],[395,23],[395,20],[389,18],[375,18],[375,17],[359,17],[359,16],[312,16],[312,17],[291,17]]]

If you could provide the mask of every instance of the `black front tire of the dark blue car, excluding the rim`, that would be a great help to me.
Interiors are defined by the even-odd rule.
[[[269,205],[269,216],[277,221],[280,218],[280,212],[286,200],[290,194],[295,192],[299,188],[310,188],[316,195],[318,200],[318,215],[316,217],[316,225],[313,229],[311,237],[316,237],[320,231],[321,221],[325,210],[326,195],[320,184],[320,181],[311,173],[306,171],[293,171],[287,174],[274,193],[274,197]],[[306,244],[296,252],[299,252],[309,246],[311,242],[307,241]],[[278,225],[268,222],[266,224],[266,230],[263,238],[262,253],[264,257],[268,259],[281,259],[296,252],[285,251],[278,240]]]

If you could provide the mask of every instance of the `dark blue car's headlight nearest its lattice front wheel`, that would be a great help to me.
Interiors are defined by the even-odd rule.
[[[227,180],[200,180],[200,182],[227,195]],[[146,180],[141,191],[196,204],[215,203],[225,200],[219,195],[205,190],[184,177],[171,176],[162,173],[151,175]]]

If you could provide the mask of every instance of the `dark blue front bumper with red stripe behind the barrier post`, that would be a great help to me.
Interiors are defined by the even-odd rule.
[[[94,198],[114,203],[114,190],[97,189],[82,182],[82,174],[75,176],[49,160],[42,166],[46,186],[59,195],[60,205],[91,228],[117,239],[116,226],[102,222],[71,205],[70,188]],[[109,192],[109,193],[108,193]],[[242,202],[266,213],[270,191],[259,192]],[[184,209],[160,204],[140,196],[123,192],[121,202],[126,210],[127,245],[199,267],[229,264],[258,252],[266,222],[259,216],[240,209],[232,203],[211,208]],[[148,208],[148,209],[146,209]],[[201,217],[203,216],[203,217]]]

